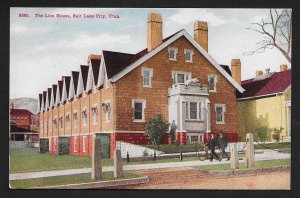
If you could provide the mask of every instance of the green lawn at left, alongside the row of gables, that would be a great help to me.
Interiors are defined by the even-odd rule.
[[[62,170],[91,167],[89,156],[40,154],[37,148],[10,149],[10,173]],[[112,166],[111,159],[102,159],[102,166]]]

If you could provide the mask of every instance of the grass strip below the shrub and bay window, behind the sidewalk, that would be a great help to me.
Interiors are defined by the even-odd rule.
[[[144,147],[147,148],[151,148],[151,149],[156,149],[159,151],[163,151],[165,153],[179,153],[180,150],[182,153],[187,153],[187,152],[196,152],[196,151],[202,151],[203,150],[203,146],[200,144],[185,144],[185,145],[171,145],[171,144],[162,144],[159,146],[156,145],[142,145]],[[151,154],[151,153],[149,153]]]

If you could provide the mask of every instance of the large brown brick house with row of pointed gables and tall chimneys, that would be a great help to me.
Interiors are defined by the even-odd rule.
[[[157,114],[175,121],[181,144],[220,130],[238,140],[240,60],[231,62],[232,77],[208,54],[206,22],[195,23],[194,38],[183,29],[163,39],[161,16],[151,13],[147,33],[146,49],[90,55],[79,72],[39,94],[40,137],[49,152],[64,142],[72,155],[91,155],[94,134],[108,157],[116,141],[149,144],[145,126]],[[162,143],[168,142],[167,133]]]

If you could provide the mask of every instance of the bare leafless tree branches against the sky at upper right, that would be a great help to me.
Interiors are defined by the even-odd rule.
[[[255,28],[246,28],[261,34],[262,40],[256,43],[257,49],[244,53],[253,55],[263,53],[266,49],[276,48],[291,62],[292,47],[292,10],[270,9],[268,19],[261,19],[260,23],[251,23]]]

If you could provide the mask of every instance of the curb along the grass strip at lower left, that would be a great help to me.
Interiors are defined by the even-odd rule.
[[[133,179],[120,179],[120,180],[111,180],[111,181],[100,181],[100,182],[89,182],[89,183],[80,183],[80,184],[65,184],[57,186],[43,186],[36,187],[31,189],[91,189],[91,188],[107,188],[115,186],[125,186],[125,185],[134,185],[134,184],[145,184],[149,182],[149,177],[139,177]]]

